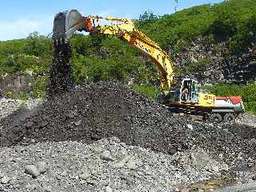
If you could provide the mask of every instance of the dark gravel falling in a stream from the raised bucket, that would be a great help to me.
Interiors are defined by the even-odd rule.
[[[47,95],[53,97],[65,93],[74,87],[72,66],[70,65],[72,48],[69,43],[54,46],[53,65],[50,69],[50,83]]]

